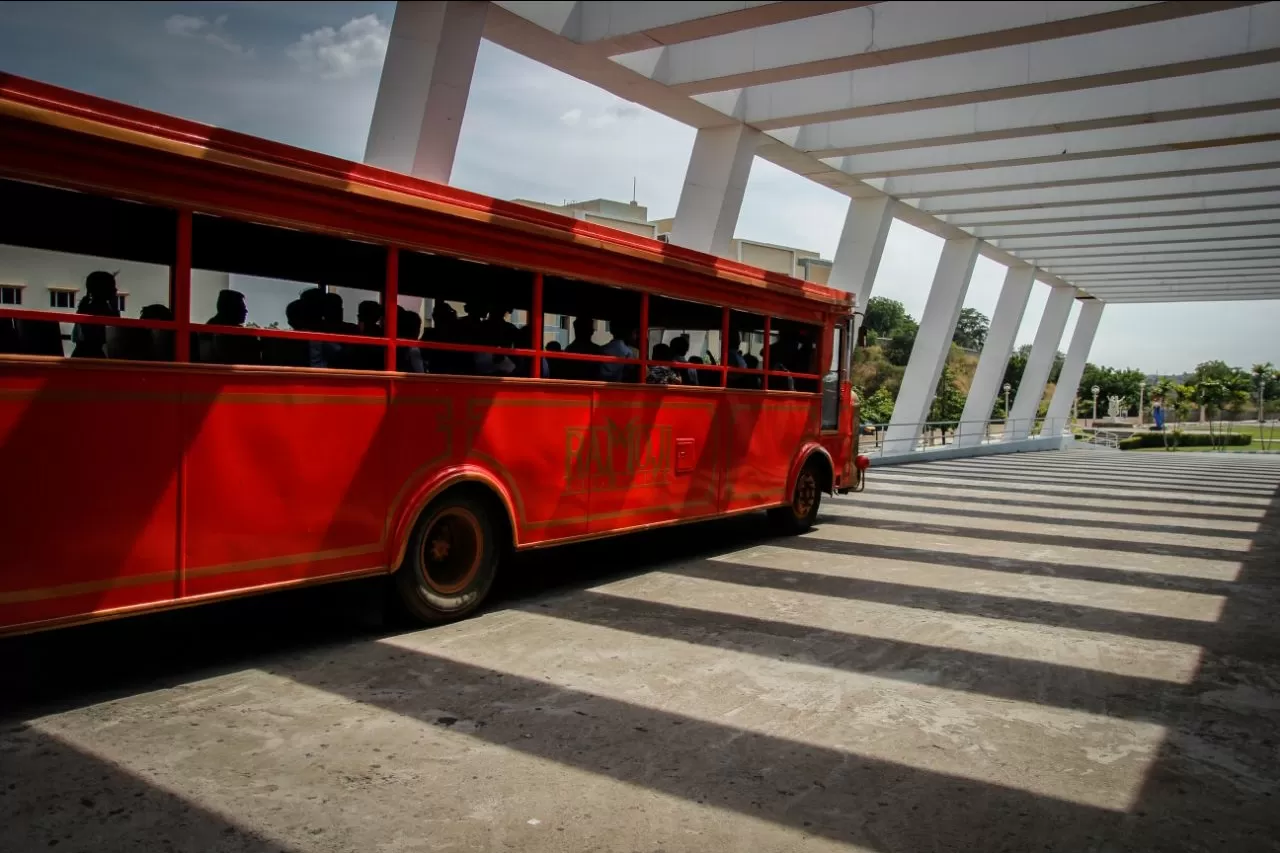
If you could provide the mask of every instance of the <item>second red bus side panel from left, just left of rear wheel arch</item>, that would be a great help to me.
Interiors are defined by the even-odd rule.
[[[387,565],[387,384],[191,377],[187,594]]]

